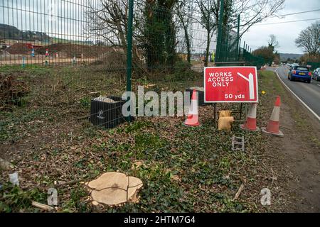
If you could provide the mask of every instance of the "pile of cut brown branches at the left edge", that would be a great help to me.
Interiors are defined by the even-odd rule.
[[[14,75],[0,74],[0,110],[12,109],[11,106],[21,106],[22,98],[28,94],[25,82]]]

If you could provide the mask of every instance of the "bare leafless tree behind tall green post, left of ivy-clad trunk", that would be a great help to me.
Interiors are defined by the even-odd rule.
[[[136,10],[143,11],[144,0],[135,0],[135,2]],[[142,26],[143,17],[143,13],[134,13],[132,52],[134,65],[145,72],[144,56],[141,51],[142,43],[146,43]],[[104,43],[117,52],[127,52],[127,19],[127,0],[101,0],[99,6],[87,0],[86,23],[83,31],[88,38],[99,40],[99,43]]]

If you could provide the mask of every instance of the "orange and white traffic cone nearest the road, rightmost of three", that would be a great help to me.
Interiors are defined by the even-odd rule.
[[[272,135],[277,135],[280,137],[284,136],[282,131],[279,131],[280,106],[281,106],[281,98],[280,96],[277,96],[277,100],[274,104],[274,109],[272,111],[270,121],[267,125],[267,128],[262,128],[262,132],[272,134]]]

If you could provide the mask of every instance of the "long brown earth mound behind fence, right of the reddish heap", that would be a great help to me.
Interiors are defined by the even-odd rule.
[[[59,54],[63,52],[63,55],[66,57],[99,57],[103,55],[105,52],[109,52],[112,50],[110,47],[101,47],[95,45],[77,45],[70,43],[55,43],[52,45],[43,46],[38,48],[36,52],[41,55],[46,54],[46,49],[49,50],[50,55],[54,55],[56,53]]]

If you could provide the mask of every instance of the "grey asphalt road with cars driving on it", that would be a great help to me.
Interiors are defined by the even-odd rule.
[[[284,84],[287,84],[299,99],[304,101],[314,113],[320,116],[320,82],[316,82],[314,79],[311,80],[311,84],[298,81],[292,82],[288,79],[289,68],[286,66],[279,67],[277,72]]]

